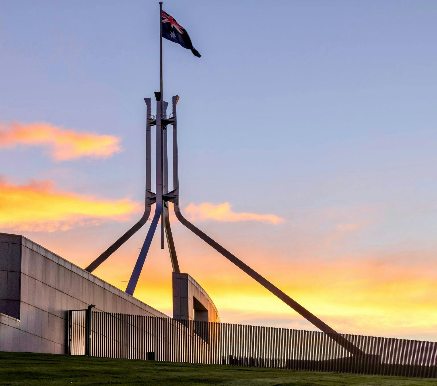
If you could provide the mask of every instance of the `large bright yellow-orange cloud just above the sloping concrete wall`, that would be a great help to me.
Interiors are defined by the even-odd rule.
[[[104,200],[61,192],[52,181],[8,184],[0,178],[0,228],[46,231],[99,225],[110,219],[127,219],[140,205],[125,198]]]

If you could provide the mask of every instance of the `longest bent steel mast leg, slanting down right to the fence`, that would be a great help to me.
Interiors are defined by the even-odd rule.
[[[178,160],[177,160],[177,123],[176,123],[176,103],[179,99],[178,96],[173,97],[173,185],[175,192],[175,199],[173,201],[173,208],[176,214],[177,219],[184,224],[191,232],[193,232],[196,236],[199,236],[202,240],[204,240],[207,244],[213,247],[216,251],[226,257],[229,261],[234,263],[237,267],[239,267],[242,271],[246,272],[251,278],[255,279],[258,283],[260,283],[264,288],[268,289],[272,294],[281,299],[285,304],[294,309],[297,313],[302,315],[306,320],[312,323],[314,326],[319,328],[319,330],[323,331],[327,334],[331,339],[340,344],[343,348],[349,351],[353,355],[362,356],[365,355],[363,351],[361,351],[357,346],[352,344],[338,332],[333,330],[333,328],[329,327],[326,323],[320,320],[318,317],[313,315],[307,309],[302,307],[295,300],[291,299],[286,293],[282,292],[275,285],[265,279],[263,276],[258,274],[252,268],[250,268],[247,264],[243,263],[243,261],[239,260],[236,256],[231,254],[228,250],[223,248],[216,241],[212,240],[211,237],[203,233],[196,226],[191,224],[187,219],[182,216],[182,213],[179,209],[179,173],[178,173]]]

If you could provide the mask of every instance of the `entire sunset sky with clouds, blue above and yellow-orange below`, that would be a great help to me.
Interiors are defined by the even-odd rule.
[[[163,41],[164,99],[180,96],[184,215],[334,329],[436,341],[437,3],[163,9],[202,55]],[[84,268],[144,208],[159,5],[0,0],[0,10],[0,231]],[[170,221],[181,271],[223,322],[314,329]],[[94,274],[124,290],[146,232]],[[171,316],[158,236],[135,296]]]

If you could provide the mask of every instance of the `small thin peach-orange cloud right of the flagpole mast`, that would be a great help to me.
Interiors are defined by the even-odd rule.
[[[192,221],[215,220],[235,223],[237,221],[259,221],[261,223],[279,224],[284,219],[275,215],[260,215],[257,213],[233,212],[229,202],[223,204],[210,204],[209,202],[202,202],[195,205],[191,202],[185,209],[187,215]]]

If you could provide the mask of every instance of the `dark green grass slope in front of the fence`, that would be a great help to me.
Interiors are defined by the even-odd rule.
[[[0,352],[0,385],[433,385],[436,379]]]

